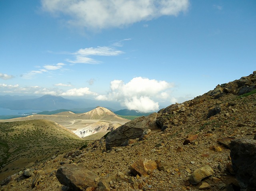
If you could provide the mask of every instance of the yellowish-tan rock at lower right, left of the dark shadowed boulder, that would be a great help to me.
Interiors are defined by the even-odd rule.
[[[209,165],[204,165],[196,169],[189,177],[191,184],[198,184],[200,181],[208,176],[213,175],[214,171]]]

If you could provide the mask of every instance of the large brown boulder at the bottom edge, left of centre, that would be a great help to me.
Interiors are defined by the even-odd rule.
[[[86,191],[88,187],[96,187],[94,179],[98,175],[86,168],[65,164],[57,170],[56,177],[62,185],[70,187],[74,191]]]

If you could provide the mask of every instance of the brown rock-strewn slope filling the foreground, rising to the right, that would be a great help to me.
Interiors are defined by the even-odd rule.
[[[21,169],[0,190],[254,191],[255,90],[256,71]]]

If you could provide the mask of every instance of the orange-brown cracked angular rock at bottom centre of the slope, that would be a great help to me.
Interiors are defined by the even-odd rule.
[[[139,159],[137,160],[135,163],[133,163],[130,166],[130,170],[132,171],[132,173],[134,175],[144,175],[147,176],[149,171],[152,171],[154,169],[157,169],[157,163],[155,161],[152,160],[148,160],[148,159]]]

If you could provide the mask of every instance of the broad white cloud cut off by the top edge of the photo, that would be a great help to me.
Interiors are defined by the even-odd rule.
[[[88,29],[123,27],[187,10],[189,0],[42,0],[42,9]]]

